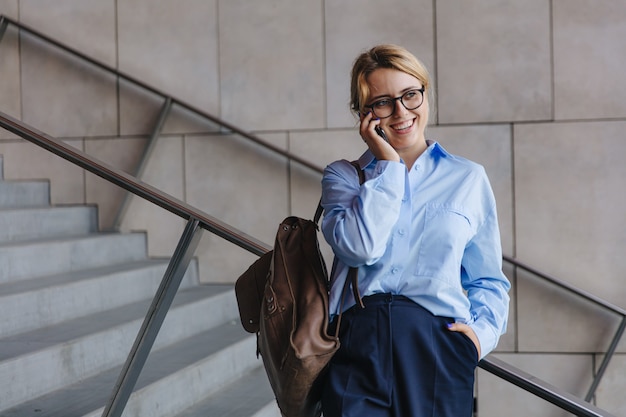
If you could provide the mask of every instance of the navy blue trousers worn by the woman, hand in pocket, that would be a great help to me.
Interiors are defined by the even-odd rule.
[[[377,294],[343,314],[324,417],[471,417],[478,353],[406,297]],[[336,323],[331,324],[334,332]]]

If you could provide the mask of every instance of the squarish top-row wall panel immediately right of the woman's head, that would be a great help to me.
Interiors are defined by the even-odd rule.
[[[551,114],[550,3],[437,2],[440,123]]]

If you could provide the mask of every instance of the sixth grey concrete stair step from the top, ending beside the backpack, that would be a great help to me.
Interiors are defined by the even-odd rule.
[[[236,321],[154,350],[131,395],[124,416],[172,416],[191,404],[196,391],[216,391],[258,366],[254,336]],[[247,357],[246,357],[247,356]],[[2,412],[3,417],[100,416],[121,366]],[[183,403],[183,405],[181,405]]]

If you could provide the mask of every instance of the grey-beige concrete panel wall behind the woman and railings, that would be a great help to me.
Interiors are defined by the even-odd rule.
[[[621,0],[0,0],[0,13],[319,166],[363,151],[348,111],[353,59],[401,44],[435,81],[427,136],[487,169],[504,252],[625,306]],[[0,110],[122,169],[160,106],[15,31],[0,43]],[[6,178],[49,178],[54,204],[98,204],[110,225],[114,187],[2,130],[0,154]],[[284,216],[312,215],[320,177],[175,111],[143,179],[271,242]],[[125,230],[149,231],[154,256],[169,256],[182,228],[140,201],[124,218]],[[252,260],[208,234],[198,255],[206,282],[232,282]],[[510,276],[499,357],[584,395],[615,318]],[[616,415],[625,343],[596,396]],[[480,416],[563,415],[482,371],[477,391]]]

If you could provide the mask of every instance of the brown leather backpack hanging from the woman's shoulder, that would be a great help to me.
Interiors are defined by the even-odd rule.
[[[313,221],[295,216],[283,220],[274,249],[235,284],[241,323],[257,333],[258,353],[284,417],[321,414],[324,371],[339,349],[341,315],[335,334],[328,334],[328,273],[317,239],[321,214],[318,205]],[[350,268],[342,303],[349,284],[360,302],[356,268]]]

